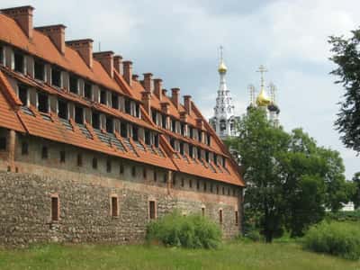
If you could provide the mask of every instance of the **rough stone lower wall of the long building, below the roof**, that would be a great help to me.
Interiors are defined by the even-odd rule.
[[[149,221],[148,202],[155,201],[157,217],[178,208],[184,214],[202,212],[219,222],[225,238],[238,235],[235,211],[241,217],[240,196],[169,190],[168,187],[95,179],[82,174],[59,177],[0,173],[0,245],[34,242],[113,242],[143,240]],[[51,221],[51,196],[58,196],[59,220]],[[111,197],[119,202],[112,217]],[[240,220],[238,224],[241,224]]]

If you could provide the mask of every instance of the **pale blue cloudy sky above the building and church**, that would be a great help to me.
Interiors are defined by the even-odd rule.
[[[219,87],[220,45],[238,115],[249,102],[247,85],[258,90],[256,70],[265,65],[284,129],[302,127],[338,150],[348,179],[360,171],[360,157],[334,129],[344,90],[329,75],[328,44],[330,35],[348,37],[360,26],[358,0],[1,0],[0,7],[25,4],[35,7],[34,26],[65,24],[66,40],[91,38],[94,50],[121,54],[135,73],[151,72],[166,89],[191,94],[207,118]]]

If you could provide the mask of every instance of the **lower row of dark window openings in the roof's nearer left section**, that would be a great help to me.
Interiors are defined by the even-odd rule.
[[[39,112],[49,113],[50,112],[50,97],[49,94],[36,91],[32,92],[35,95],[35,106]],[[29,105],[30,91],[24,85],[19,85],[18,96],[24,105]],[[34,103],[34,102],[32,102]],[[110,115],[88,110],[80,105],[67,103],[63,99],[54,99],[52,102],[56,106],[56,112],[58,117],[64,120],[68,120],[71,117],[78,124],[84,124],[85,120],[88,121],[95,130],[106,130],[108,133],[114,133],[118,131],[122,138],[132,138],[135,141],[142,139],[146,144],[154,144],[158,147],[158,134],[148,129],[140,128],[139,126],[129,123],[127,121],[120,121]],[[71,113],[70,113],[71,110]],[[87,114],[87,115],[85,115]]]

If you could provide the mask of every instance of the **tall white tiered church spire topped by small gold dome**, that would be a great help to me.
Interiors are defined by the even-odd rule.
[[[225,66],[223,59],[223,49],[220,47],[220,63],[219,76],[220,85],[218,96],[216,98],[216,106],[214,107],[214,116],[209,120],[212,128],[216,131],[220,139],[234,137],[238,135],[237,122],[238,117],[234,115],[234,105],[228,86],[226,85],[226,73],[228,68]]]

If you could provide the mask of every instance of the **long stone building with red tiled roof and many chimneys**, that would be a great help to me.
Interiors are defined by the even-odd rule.
[[[0,245],[140,241],[175,208],[237,235],[245,184],[191,96],[33,10],[0,11]]]

